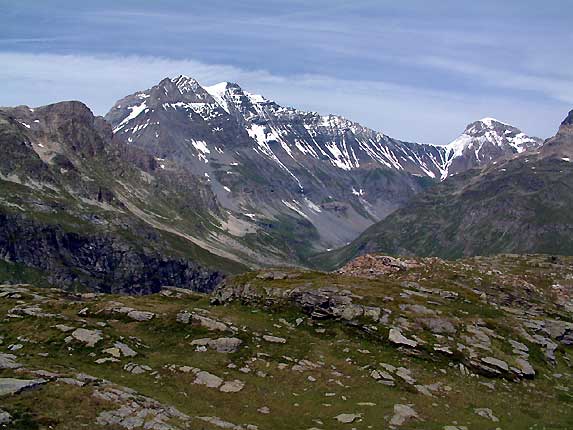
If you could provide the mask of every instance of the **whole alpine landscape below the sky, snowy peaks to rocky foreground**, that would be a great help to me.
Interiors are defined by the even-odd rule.
[[[428,145],[179,76],[0,151],[0,429],[573,428],[573,111]]]

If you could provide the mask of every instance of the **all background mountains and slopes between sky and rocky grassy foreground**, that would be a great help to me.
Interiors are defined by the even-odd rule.
[[[567,121],[545,143],[484,118],[429,145],[185,76],[105,118],[80,102],[2,108],[2,270],[145,292],[368,251],[567,253]],[[562,225],[540,221],[554,212]]]

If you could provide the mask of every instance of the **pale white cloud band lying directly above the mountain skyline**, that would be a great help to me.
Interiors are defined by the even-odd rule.
[[[97,114],[105,114],[116,100],[130,93],[149,88],[166,76],[186,74],[206,85],[237,82],[280,104],[341,114],[403,140],[440,144],[456,137],[467,123],[484,116],[498,117],[525,132],[547,137],[567,111],[563,104],[539,100],[475,97],[384,81],[280,76],[194,60],[0,52],[0,64],[0,105],[38,106],[74,99],[83,101]],[[547,88],[557,91],[549,84]]]

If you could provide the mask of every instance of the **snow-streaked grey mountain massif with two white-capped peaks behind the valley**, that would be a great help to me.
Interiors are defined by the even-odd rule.
[[[213,252],[253,236],[275,261],[341,246],[434,181],[541,143],[492,119],[470,124],[446,146],[403,142],[236,84],[203,88],[184,76],[118,101],[106,119],[118,139],[143,148],[161,169],[208,184],[235,233],[206,239]],[[284,237],[277,224],[296,237]]]

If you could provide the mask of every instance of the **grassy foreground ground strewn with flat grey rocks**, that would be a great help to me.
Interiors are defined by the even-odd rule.
[[[570,429],[573,258],[0,287],[0,428]]]

